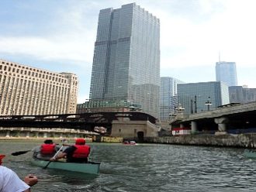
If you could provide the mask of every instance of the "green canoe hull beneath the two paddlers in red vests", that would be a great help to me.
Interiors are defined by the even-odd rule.
[[[36,166],[45,167],[47,163],[49,163],[49,161],[33,158],[32,163]],[[70,171],[75,171],[80,173],[99,174],[99,166],[100,166],[100,163],[96,163],[96,162],[66,163],[63,161],[54,161],[47,166],[47,169],[70,170]]]

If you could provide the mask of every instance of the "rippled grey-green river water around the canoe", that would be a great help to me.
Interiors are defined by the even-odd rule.
[[[39,183],[32,191],[256,191],[256,160],[244,158],[244,149],[157,144],[94,143],[90,160],[101,162],[99,176],[43,170],[30,164],[40,142],[0,141],[4,166],[19,177],[33,173]]]

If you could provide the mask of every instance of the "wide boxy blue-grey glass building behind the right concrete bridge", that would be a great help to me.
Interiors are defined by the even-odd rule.
[[[185,114],[214,110],[230,103],[227,84],[222,81],[178,84],[178,103]]]

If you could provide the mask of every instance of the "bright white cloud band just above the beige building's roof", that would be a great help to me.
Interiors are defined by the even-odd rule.
[[[39,60],[74,60],[92,63],[92,49],[86,47],[86,43],[88,41],[84,38],[70,38],[70,36],[59,36],[55,39],[38,36],[0,36],[0,53],[28,55]]]

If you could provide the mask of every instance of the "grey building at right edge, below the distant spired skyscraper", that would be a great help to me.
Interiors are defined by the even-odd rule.
[[[248,88],[247,86],[231,86],[229,87],[230,103],[249,103],[256,101],[256,88]]]

